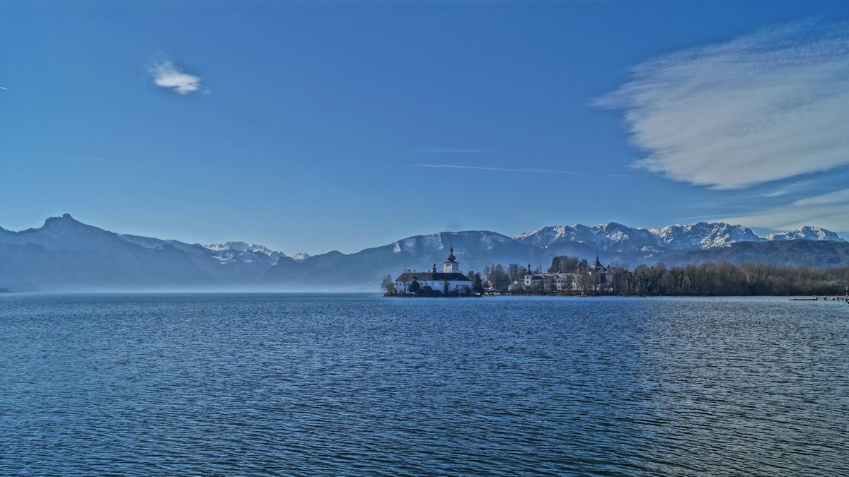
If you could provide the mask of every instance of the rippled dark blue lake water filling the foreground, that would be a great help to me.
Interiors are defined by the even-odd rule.
[[[849,306],[0,295],[0,474],[849,474]]]

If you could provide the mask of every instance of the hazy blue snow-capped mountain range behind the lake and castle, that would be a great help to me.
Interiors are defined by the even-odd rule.
[[[186,244],[113,233],[68,214],[42,227],[0,228],[0,287],[14,291],[375,290],[380,279],[430,269],[453,247],[464,271],[496,263],[548,267],[557,255],[667,265],[764,261],[775,265],[849,267],[849,244],[836,233],[801,227],[759,237],[723,222],[635,228],[610,222],[552,226],[509,237],[488,231],[416,235],[343,254],[292,257],[258,244]]]

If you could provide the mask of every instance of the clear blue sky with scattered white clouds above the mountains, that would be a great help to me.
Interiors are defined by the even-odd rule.
[[[0,227],[849,238],[849,3],[0,2]]]

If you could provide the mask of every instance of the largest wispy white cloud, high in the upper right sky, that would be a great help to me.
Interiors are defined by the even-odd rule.
[[[625,109],[634,163],[717,189],[849,164],[849,25],[764,29],[639,65],[596,104]]]

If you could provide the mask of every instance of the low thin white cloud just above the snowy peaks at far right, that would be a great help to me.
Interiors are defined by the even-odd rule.
[[[779,231],[815,225],[835,232],[849,232],[849,189],[798,199],[790,204],[721,220]]]

